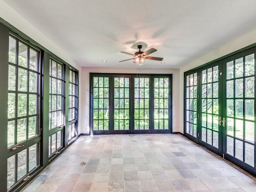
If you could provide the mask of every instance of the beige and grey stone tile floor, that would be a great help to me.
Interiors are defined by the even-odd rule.
[[[256,192],[256,179],[179,134],[96,135],[78,138],[23,190],[162,191]]]

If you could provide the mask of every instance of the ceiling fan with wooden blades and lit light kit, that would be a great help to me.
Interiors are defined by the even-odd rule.
[[[156,60],[156,61],[162,61],[163,60],[163,58],[160,58],[160,57],[150,57],[150,56],[148,56],[149,54],[152,54],[152,53],[157,51],[154,48],[151,48],[151,49],[143,52],[143,51],[140,50],[140,49],[142,49],[142,45],[138,45],[138,49],[139,49],[139,51],[134,53],[134,54],[121,51],[121,53],[132,55],[132,56],[134,56],[134,58],[122,60],[120,62],[134,59],[134,63],[136,63],[138,65],[143,65],[146,59],[148,59],[148,60]]]

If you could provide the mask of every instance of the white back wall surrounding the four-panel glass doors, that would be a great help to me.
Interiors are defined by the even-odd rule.
[[[157,69],[157,68],[96,68],[82,67],[82,91],[80,102],[82,104],[82,117],[79,119],[81,130],[79,133],[89,133],[89,110],[90,110],[90,73],[130,73],[130,74],[172,74],[172,130],[179,132],[180,114],[180,70],[179,69]]]

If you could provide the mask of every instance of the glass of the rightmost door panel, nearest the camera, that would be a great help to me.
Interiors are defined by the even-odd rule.
[[[226,114],[224,154],[250,170],[255,167],[255,63],[254,53],[224,60],[226,69]]]

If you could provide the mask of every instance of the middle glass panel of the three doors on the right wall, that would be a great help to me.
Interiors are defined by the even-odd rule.
[[[200,143],[219,153],[219,65],[202,69]]]

